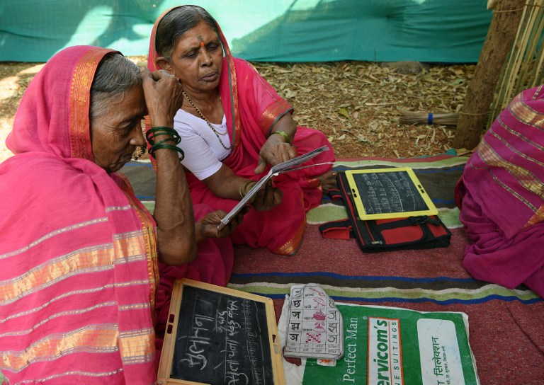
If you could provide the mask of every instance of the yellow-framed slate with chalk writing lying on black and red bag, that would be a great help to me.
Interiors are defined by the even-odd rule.
[[[346,178],[361,220],[438,214],[412,168],[350,170]]]

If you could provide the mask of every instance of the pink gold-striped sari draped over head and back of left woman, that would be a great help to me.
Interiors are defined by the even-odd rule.
[[[91,151],[90,89],[109,52],[52,57],[6,139],[15,155],[0,164],[0,370],[10,383],[156,380],[155,224]]]

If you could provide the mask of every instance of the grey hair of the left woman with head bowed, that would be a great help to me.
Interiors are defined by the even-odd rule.
[[[123,98],[125,93],[141,85],[142,74],[136,64],[117,52],[106,54],[96,68],[91,85],[91,122],[108,111],[111,98],[119,100],[119,96]]]

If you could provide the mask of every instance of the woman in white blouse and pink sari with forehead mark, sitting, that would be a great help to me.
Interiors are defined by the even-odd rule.
[[[199,6],[179,6],[157,18],[148,68],[166,69],[185,91],[174,128],[194,202],[229,212],[270,166],[329,146],[318,130],[297,127],[293,108],[251,64],[230,54],[219,25]],[[231,235],[237,244],[293,255],[302,241],[306,212],[335,182],[334,152],[324,151],[284,173],[259,192]]]

